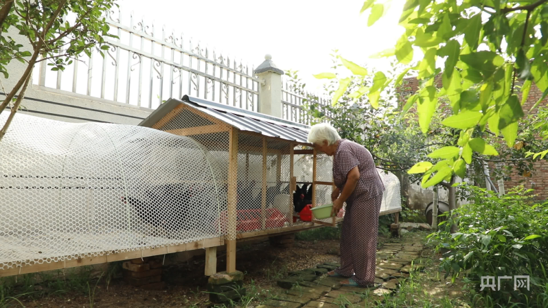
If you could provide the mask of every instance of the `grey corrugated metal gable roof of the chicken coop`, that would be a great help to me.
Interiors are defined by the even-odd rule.
[[[219,121],[238,128],[238,130],[257,132],[264,136],[277,137],[288,141],[308,143],[310,126],[188,95],[183,96],[182,100],[168,99],[167,102],[161,104],[146,119],[141,121],[139,126],[152,127],[179,104],[195,108]]]

